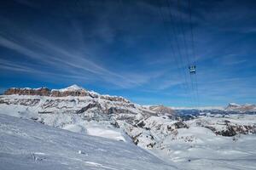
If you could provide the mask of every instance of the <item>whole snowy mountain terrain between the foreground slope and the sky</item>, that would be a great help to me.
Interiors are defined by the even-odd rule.
[[[226,166],[229,160],[224,160],[224,154],[232,153],[229,144],[238,144],[236,157],[230,156],[230,161],[237,161],[244,156],[238,151],[243,144],[255,142],[254,114],[239,111],[228,114],[225,112],[228,109],[208,108],[193,116],[191,111],[195,109],[185,111],[164,105],[137,105],[122,97],[97,94],[76,85],[62,89],[10,88],[0,96],[0,114],[32,119],[84,135],[132,142],[162,159],[175,161],[182,169],[200,169],[201,163],[218,167],[223,161]],[[187,113],[191,115],[189,118]],[[228,150],[218,148],[216,141]],[[203,150],[206,153],[202,154]],[[223,160],[214,161],[214,156]],[[239,164],[255,166],[250,160]],[[228,167],[232,169],[231,165]]]

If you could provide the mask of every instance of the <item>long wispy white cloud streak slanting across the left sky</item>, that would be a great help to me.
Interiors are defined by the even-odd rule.
[[[27,32],[26,34],[21,35],[9,35],[9,37],[6,35],[3,36],[3,33],[0,35],[0,45],[2,47],[14,50],[17,53],[28,57],[32,61],[36,61],[39,65],[44,65],[48,68],[53,67],[59,71],[58,75],[67,74],[68,77],[74,77],[74,75],[76,75],[83,79],[90,77],[90,79],[92,78],[96,81],[104,80],[104,82],[110,84],[113,83],[119,88],[140,86],[143,83],[148,82],[151,77],[157,77],[152,74],[139,75],[137,73],[132,73],[131,71],[129,74],[119,74],[110,71],[102,66],[103,63],[98,64],[91,60],[92,57],[89,57],[86,52],[74,52],[75,50],[71,49],[72,47],[69,49],[61,48],[61,46],[58,46],[58,43],[50,42],[48,39],[39,37],[33,32]],[[84,44],[81,45],[83,46]],[[0,68],[13,71],[40,72],[40,74],[49,75],[48,71],[39,71],[38,65],[26,65],[26,67],[22,67],[24,63],[20,63],[20,66],[17,66],[17,63],[15,63],[16,61],[9,60],[9,64],[11,62],[14,62],[12,64],[16,66],[2,65]],[[55,76],[53,73],[50,75]],[[91,75],[94,75],[94,77]],[[133,76],[131,77],[131,75]]]

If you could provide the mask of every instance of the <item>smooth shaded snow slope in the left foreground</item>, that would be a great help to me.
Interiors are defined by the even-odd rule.
[[[0,115],[0,169],[176,169],[135,144]]]

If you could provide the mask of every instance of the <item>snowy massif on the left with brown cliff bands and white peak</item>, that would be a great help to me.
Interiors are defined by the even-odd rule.
[[[100,95],[73,85],[60,90],[10,88],[0,97],[0,113],[44,124],[124,140],[120,126],[133,127],[157,112],[118,96]]]

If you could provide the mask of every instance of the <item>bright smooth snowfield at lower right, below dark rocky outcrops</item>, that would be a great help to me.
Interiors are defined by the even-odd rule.
[[[203,127],[180,128],[176,139],[164,139],[155,154],[189,170],[256,169],[256,135],[216,136]]]

